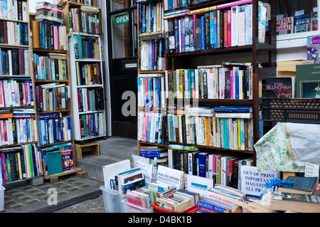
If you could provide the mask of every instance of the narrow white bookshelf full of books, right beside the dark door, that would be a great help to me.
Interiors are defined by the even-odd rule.
[[[90,139],[106,139],[102,11],[96,1],[92,1],[92,6],[82,4],[81,1],[64,1],[63,4],[65,24],[70,34],[71,94],[73,100],[76,100],[73,102],[75,140],[84,144]]]

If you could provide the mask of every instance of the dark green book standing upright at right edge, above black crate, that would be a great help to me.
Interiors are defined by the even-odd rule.
[[[320,64],[297,65],[296,97],[320,98]]]

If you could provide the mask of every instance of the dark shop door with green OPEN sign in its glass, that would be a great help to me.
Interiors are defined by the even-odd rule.
[[[137,3],[107,2],[112,136],[137,139]]]

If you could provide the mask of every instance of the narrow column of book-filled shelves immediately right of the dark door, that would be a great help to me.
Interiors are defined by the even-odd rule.
[[[165,46],[163,1],[137,1],[138,151],[166,148]]]

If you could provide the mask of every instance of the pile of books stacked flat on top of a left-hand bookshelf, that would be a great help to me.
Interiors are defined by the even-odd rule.
[[[63,25],[64,6],[58,4],[52,4],[47,1],[40,1],[36,3],[36,21],[49,21],[53,23],[60,23]]]

